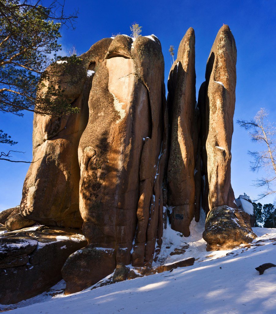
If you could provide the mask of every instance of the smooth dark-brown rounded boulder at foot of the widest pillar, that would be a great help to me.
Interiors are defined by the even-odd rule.
[[[86,246],[74,252],[61,270],[66,282],[65,295],[96,284],[115,268],[116,256],[112,248]]]

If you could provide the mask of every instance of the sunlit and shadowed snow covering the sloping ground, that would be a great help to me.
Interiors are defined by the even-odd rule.
[[[276,264],[276,229],[253,228],[258,238],[250,248],[241,245],[216,252],[206,252],[202,231],[202,221],[192,222],[192,235],[188,238],[169,228],[165,230],[163,248],[153,265],[195,257],[193,266],[67,296],[63,295],[65,283],[61,281],[47,293],[10,306],[20,307],[8,313],[275,314],[276,267],[267,269],[263,275],[255,267]],[[189,245],[184,254],[169,255],[183,245]]]

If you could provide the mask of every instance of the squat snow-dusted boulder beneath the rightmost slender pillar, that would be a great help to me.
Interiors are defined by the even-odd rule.
[[[251,243],[257,236],[250,226],[250,215],[238,208],[218,206],[207,215],[203,239],[206,251],[228,250]]]

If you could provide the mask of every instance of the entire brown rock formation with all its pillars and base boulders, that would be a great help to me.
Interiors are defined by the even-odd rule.
[[[20,212],[1,213],[0,224],[8,230],[35,222],[82,227],[87,242],[53,227],[0,236],[0,275],[8,287],[0,302],[39,293],[61,274],[69,294],[96,284],[114,269],[113,279],[120,281],[192,265],[193,257],[152,267],[168,213],[172,228],[189,236],[201,206],[207,214],[203,238],[209,251],[256,237],[250,216],[234,203],[231,187],[236,46],[227,25],[212,46],[198,104],[192,28],[170,70],[167,102],[164,59],[154,35],[106,38],[78,62],[63,60],[50,67],[60,75],[43,82],[39,93],[61,86],[64,99],[80,112],[60,118],[34,115],[34,163],[24,182]],[[184,254],[185,248],[170,255]],[[125,266],[129,264],[135,271]],[[20,284],[13,287],[15,281]]]

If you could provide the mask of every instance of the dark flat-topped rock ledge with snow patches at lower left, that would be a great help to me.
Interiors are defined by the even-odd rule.
[[[56,284],[67,257],[87,244],[75,231],[41,226],[1,234],[0,304],[17,303]]]

